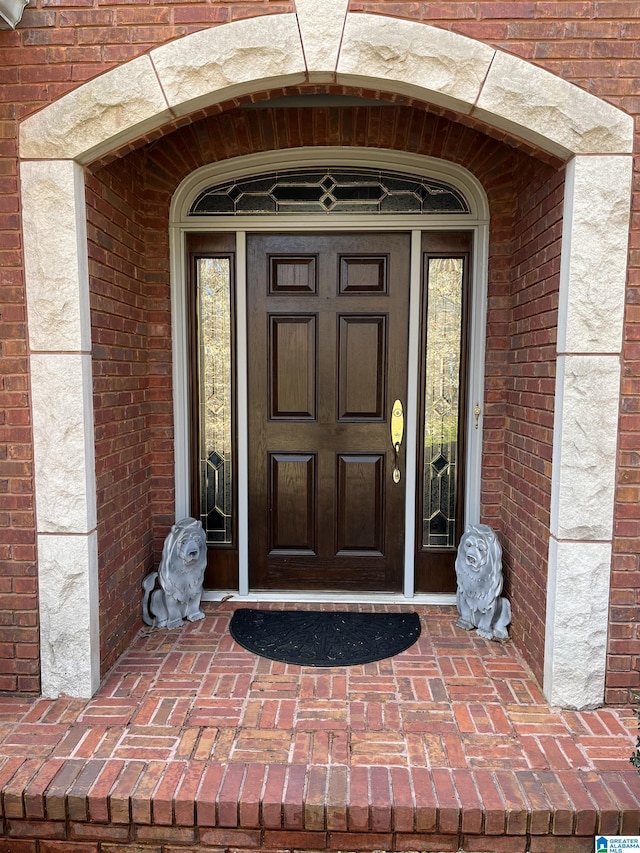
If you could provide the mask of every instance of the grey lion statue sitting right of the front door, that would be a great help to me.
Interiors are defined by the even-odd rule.
[[[487,640],[506,640],[511,622],[511,604],[501,597],[502,548],[487,524],[467,525],[456,555],[458,591],[456,625]]]

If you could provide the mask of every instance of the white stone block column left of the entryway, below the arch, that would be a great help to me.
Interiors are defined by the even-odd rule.
[[[84,174],[24,162],[42,693],[100,682],[98,558]]]

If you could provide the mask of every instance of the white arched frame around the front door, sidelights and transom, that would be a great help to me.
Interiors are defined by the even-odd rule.
[[[198,216],[189,217],[194,199],[208,186],[261,172],[275,171],[285,166],[291,168],[371,167],[385,170],[397,169],[444,181],[459,189],[470,206],[469,214],[453,215],[339,215],[320,214],[308,216]],[[228,593],[246,599],[277,597],[278,600],[354,600],[357,598],[397,601],[412,599],[424,603],[454,603],[454,595],[416,594],[414,592],[414,541],[416,459],[407,454],[405,489],[405,566],[402,595],[375,594],[357,596],[349,594],[318,594],[260,591],[253,595],[249,588],[248,564],[248,476],[247,476],[247,334],[246,334],[246,234],[247,232],[287,231],[298,233],[320,231],[403,231],[411,234],[411,273],[408,340],[408,379],[406,440],[407,447],[415,447],[419,413],[419,342],[420,342],[420,288],[421,288],[421,234],[423,231],[469,231],[473,234],[471,317],[469,337],[468,400],[472,406],[483,408],[484,352],[487,302],[487,252],[488,203],[479,182],[461,166],[431,157],[399,151],[367,148],[324,148],[273,151],[238,157],[223,163],[204,166],[189,175],[178,187],[171,205],[171,297],[173,346],[173,395],[175,429],[175,489],[176,520],[190,515],[190,447],[189,447],[189,359],[186,316],[186,236],[189,233],[235,232],[236,235],[236,389],[237,389],[237,483],[238,483],[238,551],[239,586],[237,590],[206,592],[205,598],[219,599]],[[467,454],[465,460],[465,523],[480,518],[480,471],[482,455],[482,422],[476,428],[475,419],[467,419]]]

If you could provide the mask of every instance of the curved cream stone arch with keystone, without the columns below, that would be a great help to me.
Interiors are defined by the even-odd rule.
[[[562,159],[630,154],[633,119],[523,59],[447,30],[298,0],[297,14],[200,30],[90,80],[20,128],[23,159],[87,163],[171,119],[303,82],[380,88],[506,130]],[[326,17],[325,17],[326,16]]]

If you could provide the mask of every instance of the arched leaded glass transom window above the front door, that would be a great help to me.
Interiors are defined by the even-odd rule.
[[[429,178],[378,169],[304,169],[208,187],[189,216],[469,212],[459,190]]]

